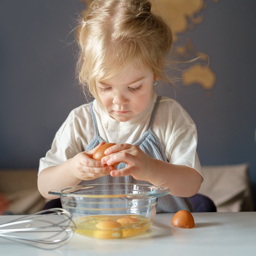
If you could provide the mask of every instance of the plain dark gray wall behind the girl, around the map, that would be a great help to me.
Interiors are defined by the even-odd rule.
[[[217,75],[176,99],[198,127],[202,165],[250,163],[256,194],[256,20],[254,0],[207,0],[189,32]],[[79,0],[0,0],[0,168],[36,168],[70,110],[84,103],[74,74]],[[160,92],[173,97],[168,86]]]

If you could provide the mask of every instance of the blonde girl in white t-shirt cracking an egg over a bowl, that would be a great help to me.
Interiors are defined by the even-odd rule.
[[[169,26],[147,0],[96,0],[76,36],[79,80],[94,100],[72,110],[40,159],[40,193],[53,199],[51,189],[77,184],[154,184],[171,189],[158,213],[193,211],[188,197],[202,182],[196,127],[175,100],[154,92],[157,79],[169,82]],[[106,142],[116,145],[92,159]]]

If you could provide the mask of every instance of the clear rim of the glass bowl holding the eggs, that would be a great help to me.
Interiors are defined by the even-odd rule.
[[[131,193],[124,193],[119,195],[83,195],[83,194],[76,194],[81,189],[86,187],[95,187],[95,186],[103,186],[103,185],[137,185],[143,187],[150,187],[155,188],[153,191],[145,191],[138,194],[131,194]],[[76,196],[81,198],[158,198],[159,196],[167,195],[171,192],[171,190],[167,187],[163,186],[154,186],[148,184],[137,184],[137,183],[108,183],[108,184],[87,184],[87,185],[76,185],[76,186],[65,186],[58,189],[52,189],[48,193],[51,195],[58,195],[60,197],[69,197],[69,196]]]

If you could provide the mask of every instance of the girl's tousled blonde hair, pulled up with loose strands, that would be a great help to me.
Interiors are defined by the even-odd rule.
[[[95,0],[76,30],[77,72],[83,92],[99,100],[96,81],[109,79],[128,65],[148,67],[170,82],[163,70],[171,51],[169,25],[151,12],[147,0]]]

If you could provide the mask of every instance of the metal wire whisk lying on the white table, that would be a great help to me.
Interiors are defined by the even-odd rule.
[[[72,238],[75,229],[72,213],[52,208],[1,224],[0,237],[41,249],[56,249]]]

